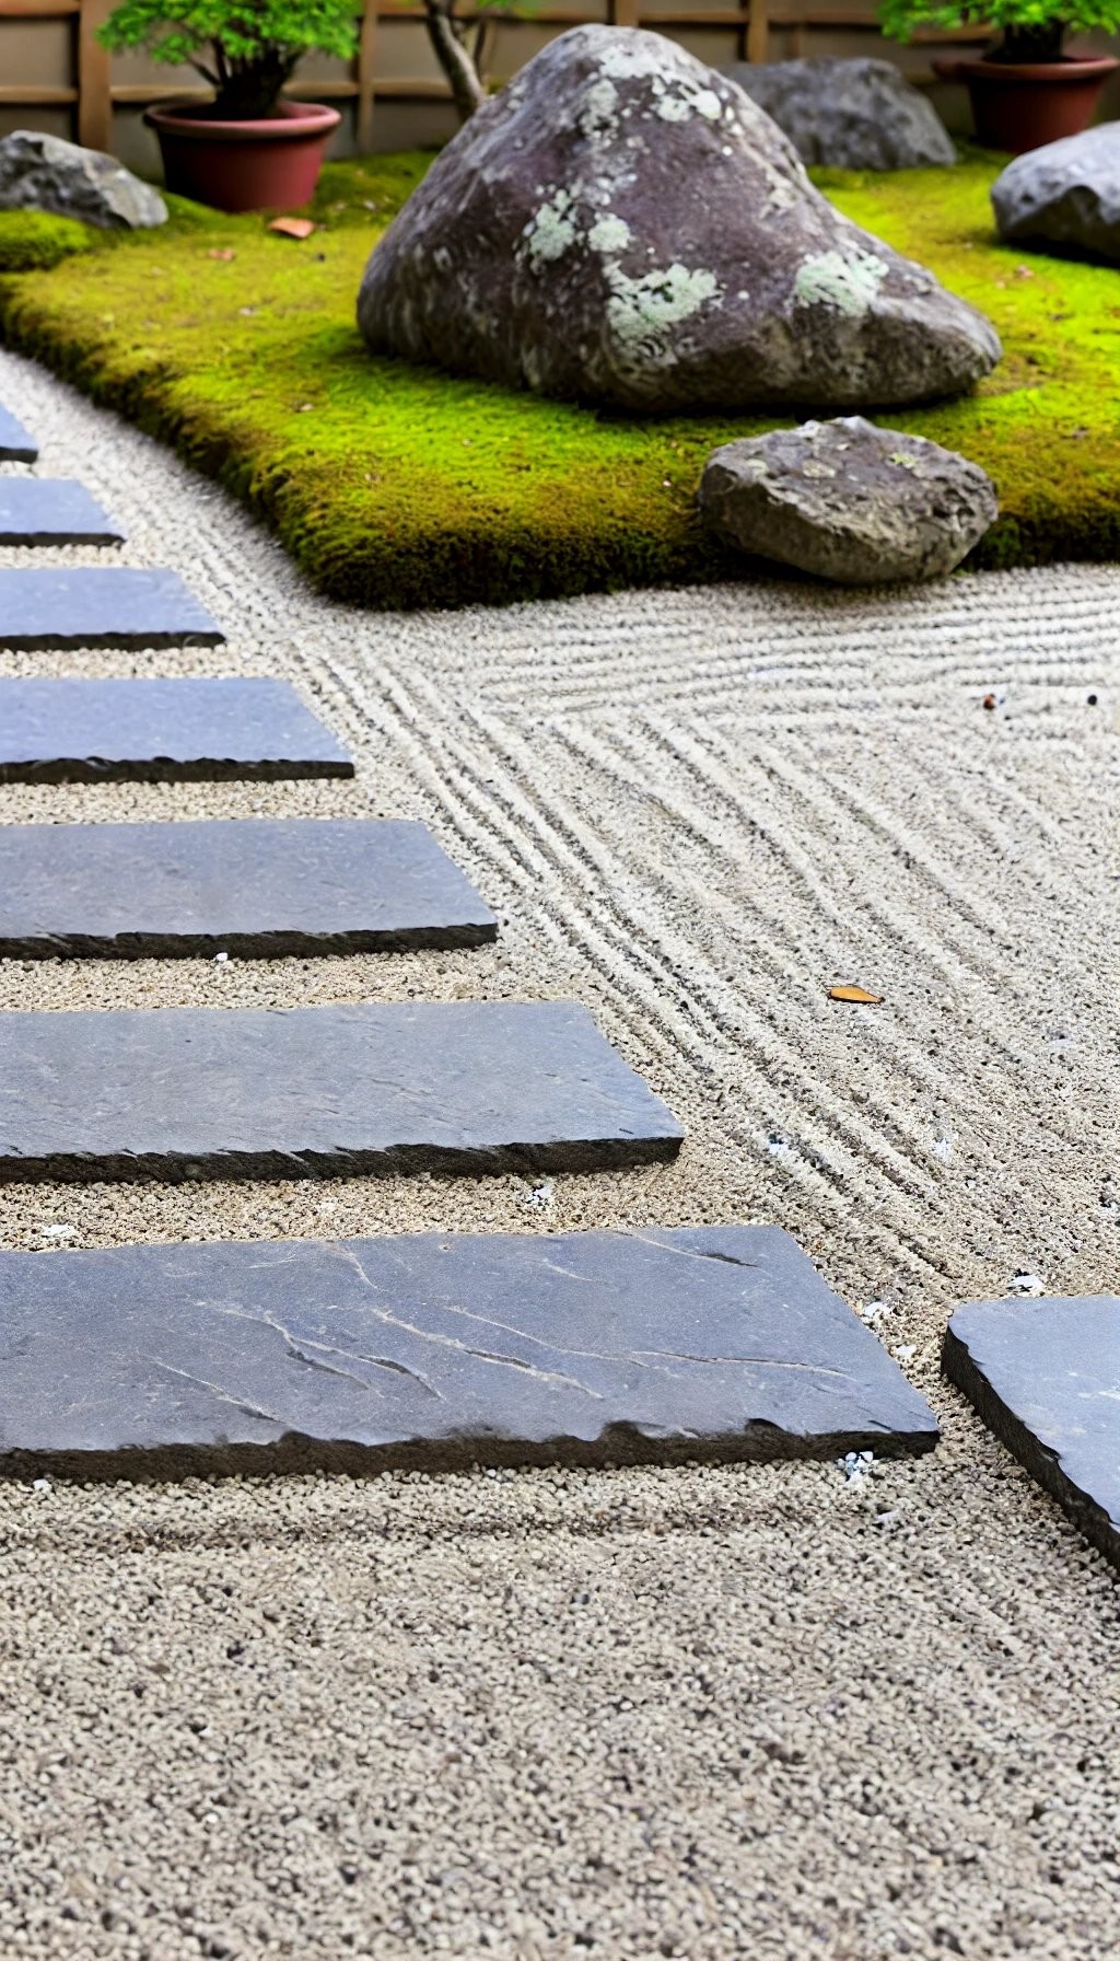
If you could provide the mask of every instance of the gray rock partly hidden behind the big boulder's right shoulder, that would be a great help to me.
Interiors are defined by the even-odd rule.
[[[739,61],[728,75],[785,129],[802,163],[916,171],[957,161],[932,102],[892,61]]]

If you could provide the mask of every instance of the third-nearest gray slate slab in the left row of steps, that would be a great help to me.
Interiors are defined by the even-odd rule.
[[[424,824],[0,826],[0,957],[477,947],[498,924]]]

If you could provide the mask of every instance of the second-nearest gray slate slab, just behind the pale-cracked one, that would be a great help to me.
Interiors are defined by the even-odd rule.
[[[0,1182],[590,1171],[681,1137],[575,1002],[0,1014]]]

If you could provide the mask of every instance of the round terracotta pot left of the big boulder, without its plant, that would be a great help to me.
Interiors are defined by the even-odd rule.
[[[261,122],[220,122],[208,108],[167,102],[145,114],[163,151],[167,188],[220,212],[306,204],[339,112],[280,102]]]

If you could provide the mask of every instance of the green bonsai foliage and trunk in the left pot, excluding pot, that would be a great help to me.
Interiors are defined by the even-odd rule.
[[[359,12],[359,0],[122,0],[98,39],[186,63],[214,88],[216,118],[263,122],[312,49],[349,61]]]

